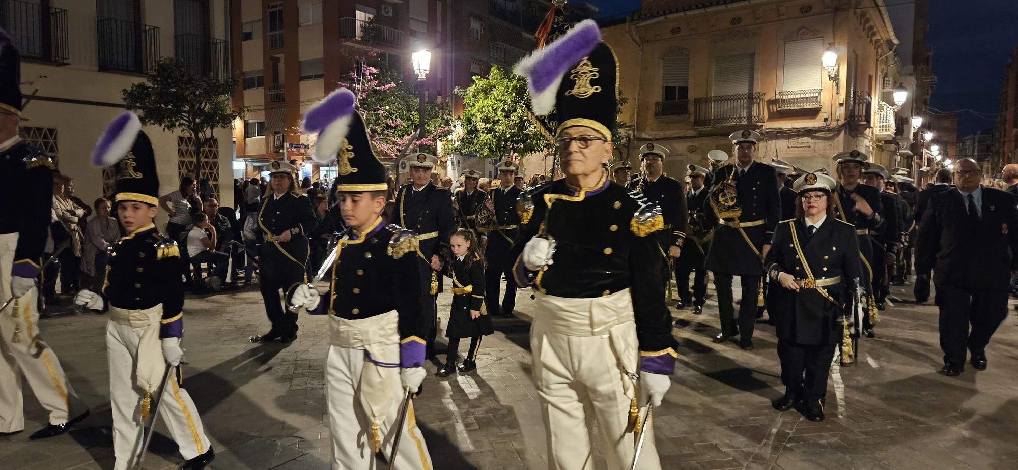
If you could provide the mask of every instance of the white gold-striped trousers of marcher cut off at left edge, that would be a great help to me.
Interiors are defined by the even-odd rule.
[[[0,235],[0,303],[10,298],[11,267],[17,234]],[[88,409],[60,367],[57,355],[39,331],[38,288],[0,311],[0,432],[24,429],[21,374],[36,399],[50,412],[50,424],[62,424]]]

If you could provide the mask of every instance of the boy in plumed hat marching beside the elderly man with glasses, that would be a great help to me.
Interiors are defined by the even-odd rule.
[[[315,160],[328,162],[338,152],[336,192],[350,230],[337,246],[329,292],[320,297],[301,285],[290,304],[330,315],[325,373],[332,468],[374,469],[375,454],[384,451],[388,459],[402,433],[391,468],[431,469],[413,404],[407,402],[405,411],[402,406],[426,375],[422,338],[429,324],[420,309],[417,266],[423,261],[413,232],[383,223],[386,171],[353,103],[353,94],[339,89],[304,121],[305,132],[318,133]]]

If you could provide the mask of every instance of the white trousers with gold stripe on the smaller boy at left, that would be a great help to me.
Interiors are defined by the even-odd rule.
[[[106,324],[106,352],[110,360],[110,407],[113,411],[114,470],[124,470],[133,465],[142,453],[140,418],[145,391],[137,387],[134,370],[137,367],[138,342],[144,329],[116,321]],[[161,385],[153,390],[157,392]],[[155,393],[153,394],[155,395]],[[156,398],[152,398],[155,405]],[[150,413],[153,410],[150,410]],[[166,423],[170,435],[180,448],[180,456],[193,459],[209,450],[202,418],[187,391],[170,379],[159,405],[160,421]],[[153,419],[152,416],[149,419]]]

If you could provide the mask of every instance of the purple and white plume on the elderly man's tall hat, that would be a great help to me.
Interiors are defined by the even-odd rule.
[[[592,19],[584,19],[561,38],[521,59],[513,71],[526,77],[530,109],[539,116],[555,108],[555,94],[566,73],[601,42],[601,30]]]

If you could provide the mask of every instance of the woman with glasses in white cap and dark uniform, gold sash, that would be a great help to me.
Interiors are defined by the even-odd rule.
[[[853,356],[850,310],[862,277],[855,227],[834,216],[835,185],[823,173],[806,173],[795,181],[796,217],[778,224],[764,265],[782,288],[775,289],[776,308],[770,311],[785,397],[773,405],[787,411],[802,402],[811,421],[824,420],[836,347],[842,345],[843,360]]]

